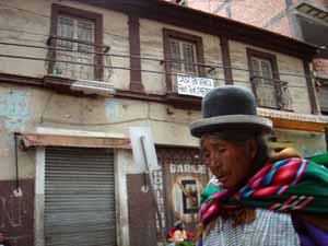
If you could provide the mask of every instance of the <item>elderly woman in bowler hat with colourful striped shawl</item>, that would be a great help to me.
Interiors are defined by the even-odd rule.
[[[214,176],[201,195],[199,245],[328,245],[327,168],[294,151],[269,156],[272,122],[244,87],[211,90],[202,116],[190,129]]]

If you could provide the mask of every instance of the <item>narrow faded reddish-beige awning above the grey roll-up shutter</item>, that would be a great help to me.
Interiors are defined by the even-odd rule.
[[[38,132],[16,132],[22,137],[25,147],[86,147],[131,149],[130,140],[126,138],[70,136]]]

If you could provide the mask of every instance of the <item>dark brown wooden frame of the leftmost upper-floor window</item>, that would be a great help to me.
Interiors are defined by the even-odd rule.
[[[58,17],[59,15],[68,15],[72,17],[78,19],[84,19],[94,22],[95,31],[94,31],[94,51],[95,52],[102,52],[103,47],[103,15],[99,13],[86,11],[86,10],[80,10],[74,9],[67,5],[61,5],[57,3],[52,3],[51,5],[51,25],[50,25],[50,36],[56,37],[57,36],[57,24],[58,24]],[[51,39],[51,46],[57,47],[56,38]],[[50,52],[50,61],[48,67],[48,74],[52,73],[52,69],[55,67],[55,60],[56,60],[56,51]],[[102,55],[94,55],[94,62],[98,65],[99,67],[94,67],[94,80],[103,81],[104,75],[104,61]]]

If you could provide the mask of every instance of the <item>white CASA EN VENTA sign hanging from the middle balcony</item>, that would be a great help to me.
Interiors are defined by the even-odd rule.
[[[212,87],[214,80],[186,74],[176,74],[178,94],[203,97]]]

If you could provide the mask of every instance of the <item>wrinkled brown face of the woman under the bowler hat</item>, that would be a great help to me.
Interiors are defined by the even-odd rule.
[[[202,157],[212,174],[225,188],[234,188],[246,178],[256,154],[255,140],[235,144],[215,136],[202,137]]]

